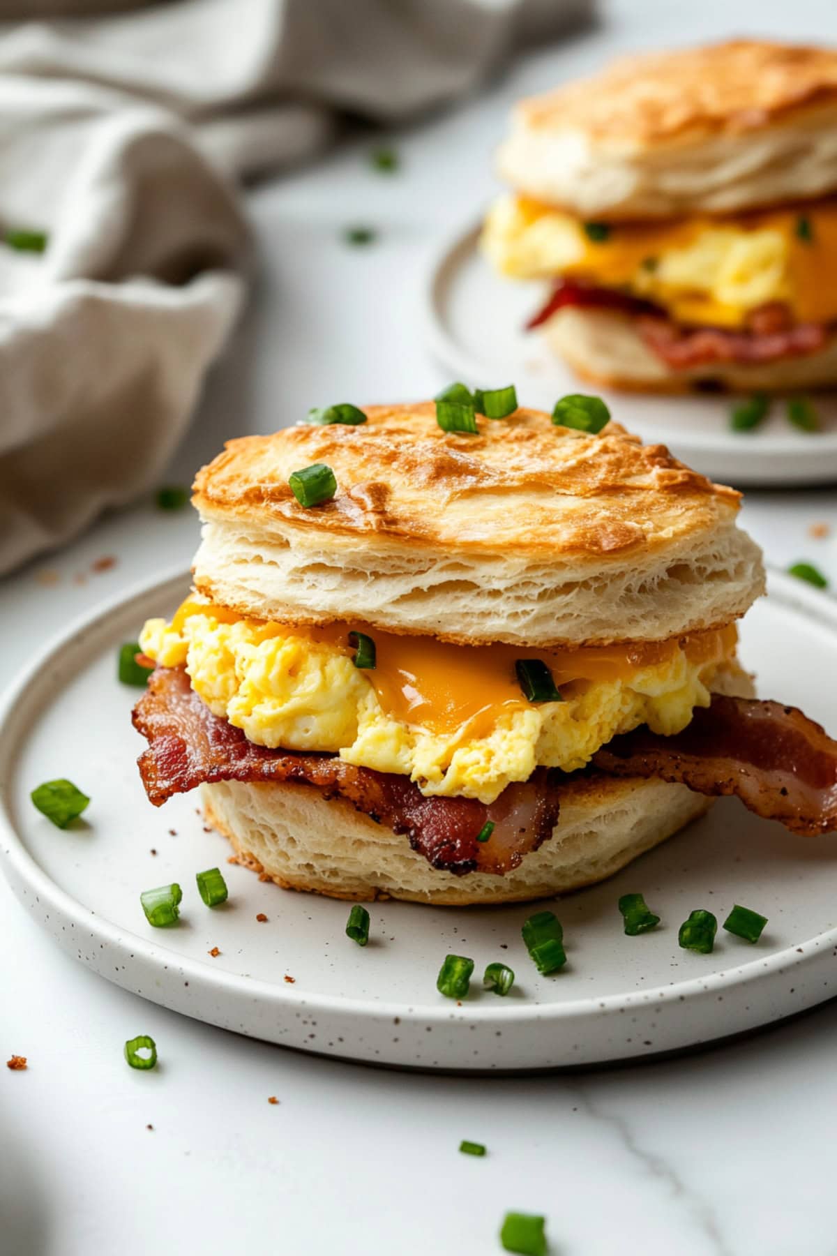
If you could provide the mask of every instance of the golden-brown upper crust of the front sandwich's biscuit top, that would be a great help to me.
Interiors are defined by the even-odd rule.
[[[599,436],[521,408],[447,433],[432,402],[365,407],[358,427],[300,426],[230,441],[195,481],[207,519],[281,522],[300,536],[374,539],[450,554],[614,558],[729,522],[739,494],[619,425]],[[328,463],[333,501],[305,509],[292,471]]]

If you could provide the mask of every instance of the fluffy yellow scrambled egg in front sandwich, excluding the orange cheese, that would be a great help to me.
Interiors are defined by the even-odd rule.
[[[410,722],[408,706],[381,703],[387,661],[380,644],[378,668],[368,672],[354,666],[350,648],[317,641],[304,628],[220,622],[211,608],[177,617],[174,624],[149,619],[139,638],[143,652],[166,667],[186,664],[211,711],[250,741],[330,751],[349,764],[409,775],[425,795],[483,803],[527,780],[538,765],[582,767],[616,734],[641,723],[664,735],[679,732],[695,706],[709,705],[708,685],[720,662],[718,652],[691,662],[675,648],[664,662],[621,678],[562,683],[561,702],[533,705],[520,695],[482,710],[479,720],[440,730]],[[397,643],[388,637],[395,654]],[[439,647],[428,639],[420,648]],[[489,647],[496,648],[506,647]]]

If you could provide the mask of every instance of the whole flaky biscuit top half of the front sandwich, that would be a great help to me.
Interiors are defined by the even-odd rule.
[[[464,435],[433,402],[364,412],[231,441],[198,474],[201,594],[282,623],[548,647],[718,628],[763,589],[739,495],[616,423],[521,408]],[[306,509],[289,479],[314,463],[336,494]]]

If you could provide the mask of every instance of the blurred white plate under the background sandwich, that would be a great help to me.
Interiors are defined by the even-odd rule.
[[[498,276],[477,249],[478,235],[471,226],[443,241],[425,289],[425,337],[452,378],[483,388],[514,383],[521,404],[543,409],[566,393],[601,393],[631,432],[668,445],[722,484],[837,480],[837,394],[817,397],[821,432],[792,427],[777,398],[758,431],[737,433],[729,430],[730,399],[722,394],[653,397],[585,384],[540,335],[525,330],[543,301],[545,285]]]

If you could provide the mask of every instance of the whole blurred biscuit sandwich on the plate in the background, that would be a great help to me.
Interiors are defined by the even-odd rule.
[[[521,102],[483,247],[550,284],[582,377],[649,392],[837,383],[837,51],[624,58]]]

